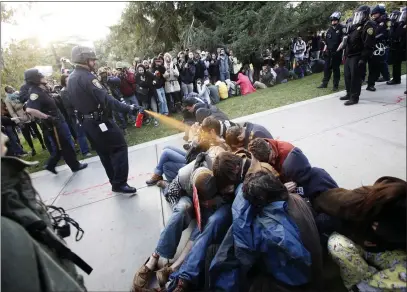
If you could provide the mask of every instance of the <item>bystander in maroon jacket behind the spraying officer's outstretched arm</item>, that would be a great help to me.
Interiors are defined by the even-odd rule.
[[[124,102],[128,105],[139,106],[136,98],[136,79],[134,73],[130,72],[123,62],[116,63],[116,70],[120,78],[120,92],[123,95]],[[136,116],[129,113],[130,123],[136,122]]]

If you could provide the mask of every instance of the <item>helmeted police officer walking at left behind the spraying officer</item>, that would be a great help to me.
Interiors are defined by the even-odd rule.
[[[73,172],[86,168],[86,163],[79,163],[76,159],[76,153],[69,139],[68,125],[64,116],[59,111],[55,100],[51,97],[46,89],[47,81],[38,69],[28,69],[24,72],[25,82],[30,86],[29,99],[27,101],[27,112],[34,117],[43,119],[43,130],[46,136],[50,137],[55,146],[51,153],[45,169],[57,174],[55,167],[61,156]]]

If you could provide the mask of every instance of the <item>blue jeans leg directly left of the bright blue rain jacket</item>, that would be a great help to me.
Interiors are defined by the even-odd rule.
[[[199,233],[198,229],[194,230],[193,233],[198,232],[199,235],[194,240],[194,245],[180,269],[171,274],[171,284],[168,291],[172,291],[172,288],[176,287],[179,278],[193,285],[198,285],[199,274],[205,267],[206,250],[211,244],[221,243],[232,224],[232,208],[230,204],[221,206],[215,212],[207,209],[201,209],[201,212],[202,218],[209,217],[209,219],[201,233]]]

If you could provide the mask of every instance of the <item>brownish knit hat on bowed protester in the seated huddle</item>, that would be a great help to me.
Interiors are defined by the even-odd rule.
[[[191,184],[195,186],[200,201],[207,201],[217,193],[215,177],[206,167],[198,167],[191,175]]]

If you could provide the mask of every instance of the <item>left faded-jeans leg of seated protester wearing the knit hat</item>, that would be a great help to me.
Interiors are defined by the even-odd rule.
[[[166,259],[172,259],[177,252],[182,231],[188,228],[194,218],[194,205],[190,197],[181,197],[174,205],[172,214],[160,234],[156,253]]]

